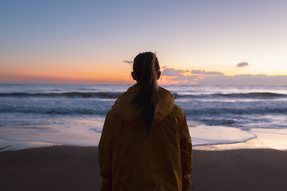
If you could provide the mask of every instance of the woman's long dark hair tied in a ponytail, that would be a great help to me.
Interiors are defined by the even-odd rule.
[[[133,72],[137,80],[135,86],[140,86],[141,89],[133,98],[131,104],[135,104],[135,110],[142,109],[141,117],[143,127],[146,127],[145,140],[150,134],[150,130],[157,114],[157,76],[159,70],[160,66],[155,53],[140,53],[133,60]]]

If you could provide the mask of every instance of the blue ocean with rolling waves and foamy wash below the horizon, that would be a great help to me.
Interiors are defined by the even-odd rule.
[[[0,151],[97,146],[107,112],[132,84],[0,84]],[[193,145],[287,128],[287,86],[162,85],[186,113]]]

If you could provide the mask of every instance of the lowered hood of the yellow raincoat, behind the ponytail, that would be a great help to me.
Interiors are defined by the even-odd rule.
[[[141,121],[141,110],[134,111],[134,105],[130,102],[139,92],[139,86],[131,86],[126,92],[124,92],[113,105],[115,113],[126,123],[133,125],[139,125]],[[172,93],[162,87],[158,90],[158,113],[154,120],[154,125],[157,125],[163,121],[172,111],[174,107],[174,96]]]

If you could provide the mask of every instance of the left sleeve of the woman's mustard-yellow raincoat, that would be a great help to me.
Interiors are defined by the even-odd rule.
[[[100,175],[102,176],[101,191],[112,190],[113,123],[108,119],[110,113],[111,111],[106,116],[98,146]]]

